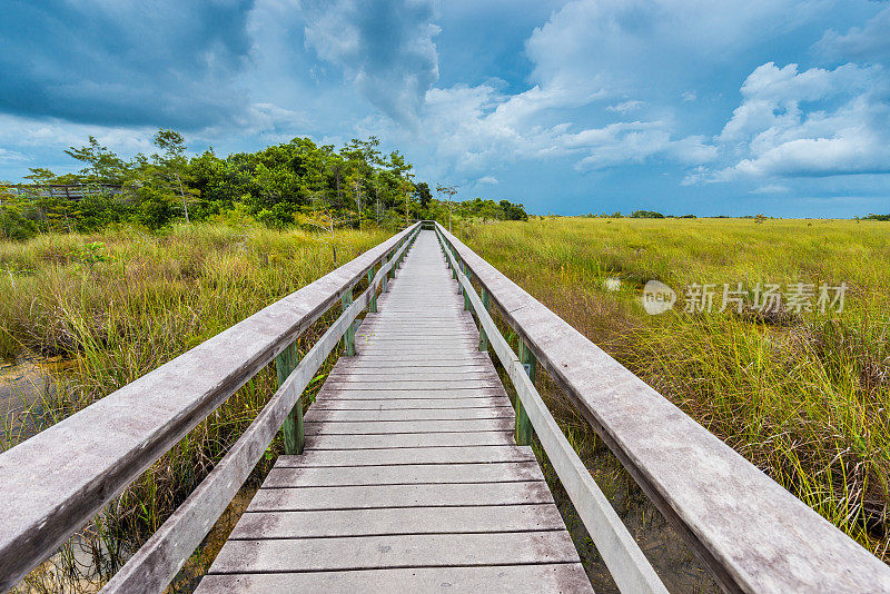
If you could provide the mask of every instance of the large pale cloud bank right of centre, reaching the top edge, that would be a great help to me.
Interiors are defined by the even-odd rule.
[[[463,175],[520,159],[568,158],[581,172],[649,160],[710,164],[718,158],[718,147],[704,135],[680,131],[673,109],[665,109],[663,100],[659,119],[627,121],[629,116],[650,103],[653,80],[666,78],[675,86],[675,97],[695,100],[690,80],[702,65],[722,67],[728,53],[794,27],[794,14],[805,11],[789,7],[818,3],[732,0],[728,7],[705,0],[575,0],[555,10],[526,41],[533,65],[526,90],[432,87],[424,96],[417,136],[435,138],[435,159]],[[693,61],[698,66],[691,69]],[[614,102],[602,106],[606,99]],[[583,113],[590,121],[589,115],[597,111],[597,126],[574,122]],[[625,121],[610,123],[604,118]],[[367,129],[394,132],[379,125]]]

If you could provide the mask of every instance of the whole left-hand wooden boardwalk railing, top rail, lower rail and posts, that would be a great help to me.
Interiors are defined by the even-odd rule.
[[[303,443],[300,395],[343,338],[355,350],[356,316],[376,309],[419,224],[315,283],[0,455],[0,590],[18,583],[75,531],[276,359],[279,388],[205,481],[106,586],[160,591],[200,544],[283,428]],[[364,278],[367,289],[353,300]],[[294,341],[340,303],[343,314],[297,363]]]

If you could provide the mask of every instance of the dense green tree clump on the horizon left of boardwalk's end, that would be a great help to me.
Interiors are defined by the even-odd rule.
[[[339,150],[308,138],[256,152],[188,157],[181,135],[159,130],[157,152],[122,159],[90,137],[66,152],[81,161],[78,174],[31,169],[31,182],[0,185],[0,238],[24,239],[41,231],[90,232],[115,225],[157,230],[177,221],[250,218],[270,228],[303,227],[332,232],[363,224],[394,227],[406,220],[449,216],[525,219],[508,200],[453,202],[456,191],[417,181],[413,166],[379,142],[354,139]],[[96,188],[78,199],[49,192],[52,185]],[[448,200],[446,200],[448,199]]]

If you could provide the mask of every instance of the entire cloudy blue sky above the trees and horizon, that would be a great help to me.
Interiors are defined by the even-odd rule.
[[[376,135],[533,212],[890,212],[890,3],[3,1],[0,179]]]

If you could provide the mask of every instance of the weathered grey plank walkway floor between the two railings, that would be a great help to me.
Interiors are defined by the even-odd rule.
[[[433,231],[198,592],[591,592]]]

